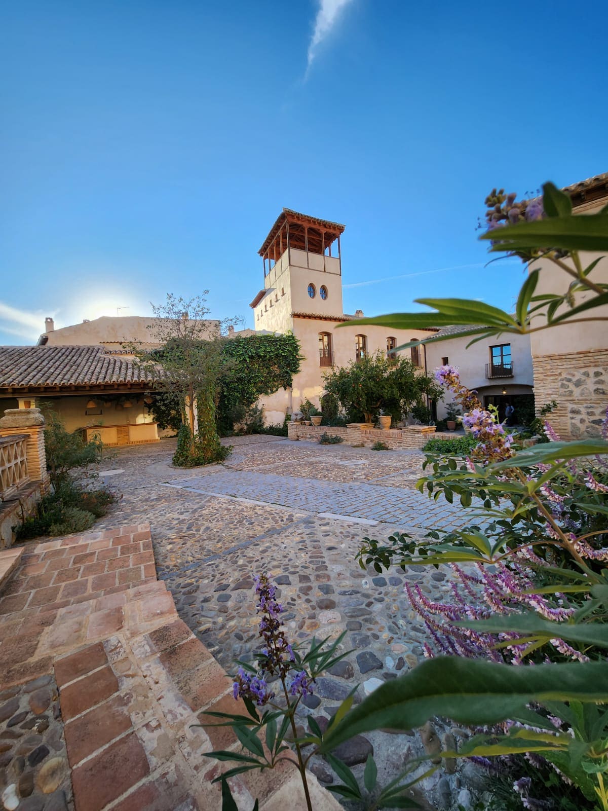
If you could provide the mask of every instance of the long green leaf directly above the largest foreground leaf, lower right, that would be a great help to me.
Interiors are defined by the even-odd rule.
[[[507,614],[492,616],[489,620],[463,620],[456,622],[456,625],[485,633],[512,632],[520,633],[525,637],[546,637],[547,639],[559,637],[568,642],[578,642],[580,645],[597,645],[608,648],[608,624],[599,622],[571,624],[544,620],[537,614]],[[606,667],[608,668],[608,665]]]

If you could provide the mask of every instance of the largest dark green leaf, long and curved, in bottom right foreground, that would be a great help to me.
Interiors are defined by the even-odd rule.
[[[554,634],[553,634],[554,635]],[[608,664],[572,663],[512,667],[442,656],[387,681],[326,732],[322,753],[362,732],[422,727],[435,715],[482,726],[499,723],[543,700],[608,700]]]

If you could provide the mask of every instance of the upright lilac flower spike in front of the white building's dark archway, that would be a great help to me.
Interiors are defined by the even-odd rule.
[[[458,368],[442,366],[435,370],[435,380],[454,394],[454,399],[462,405],[465,416],[462,420],[465,428],[470,428],[473,436],[479,443],[467,465],[472,472],[475,470],[474,462],[487,465],[492,461],[503,461],[512,456],[512,436],[504,430],[503,425],[497,423],[495,415],[483,408],[477,399],[477,392],[469,391],[460,382]]]

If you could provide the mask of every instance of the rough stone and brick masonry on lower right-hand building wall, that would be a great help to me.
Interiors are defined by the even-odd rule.
[[[608,350],[533,357],[537,409],[556,400],[549,421],[563,440],[599,436],[608,405]]]

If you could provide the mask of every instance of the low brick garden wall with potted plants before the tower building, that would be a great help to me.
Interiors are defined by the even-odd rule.
[[[326,427],[314,425],[297,425],[287,423],[287,434],[290,440],[309,440],[318,442],[323,434],[341,436],[349,445],[370,445],[383,442],[392,450],[423,448],[432,436],[435,436],[434,425],[409,425],[405,428],[389,428],[383,431],[370,423],[349,423],[346,427]]]

